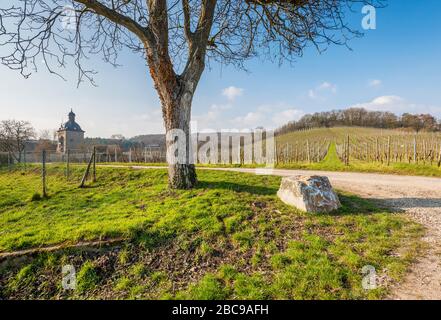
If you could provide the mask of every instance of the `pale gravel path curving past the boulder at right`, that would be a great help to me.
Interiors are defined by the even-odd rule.
[[[256,173],[255,169],[244,168],[199,169]],[[392,288],[389,299],[441,299],[441,179],[282,169],[273,169],[268,174],[325,175],[335,188],[377,200],[423,224],[427,228],[424,241],[428,244],[428,250],[415,262],[404,281]]]

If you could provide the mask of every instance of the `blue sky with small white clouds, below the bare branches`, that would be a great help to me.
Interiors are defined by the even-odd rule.
[[[390,0],[377,11],[377,29],[351,41],[352,51],[308,49],[294,65],[251,60],[249,72],[211,65],[193,103],[201,129],[274,128],[305,113],[361,106],[430,112],[441,118],[441,1]],[[351,22],[360,26],[363,15]],[[163,132],[159,101],[144,61],[123,52],[120,68],[91,61],[98,87],[76,87],[41,68],[30,79],[0,66],[0,119],[56,129],[73,108],[87,136],[127,137]]]

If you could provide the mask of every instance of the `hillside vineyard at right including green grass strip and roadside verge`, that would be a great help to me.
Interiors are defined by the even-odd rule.
[[[279,168],[441,176],[440,164],[440,133],[339,127],[277,137]]]

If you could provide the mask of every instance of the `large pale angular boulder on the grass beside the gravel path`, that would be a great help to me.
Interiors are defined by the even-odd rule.
[[[330,212],[341,204],[327,177],[284,177],[277,192],[286,204],[306,212]]]

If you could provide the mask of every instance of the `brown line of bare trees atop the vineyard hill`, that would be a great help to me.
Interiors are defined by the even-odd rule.
[[[349,108],[307,114],[298,121],[291,121],[276,130],[276,134],[292,131],[330,128],[338,126],[373,127],[383,129],[408,128],[418,131],[440,131],[441,123],[430,114],[404,113],[397,116],[387,111],[368,111],[363,108]]]

